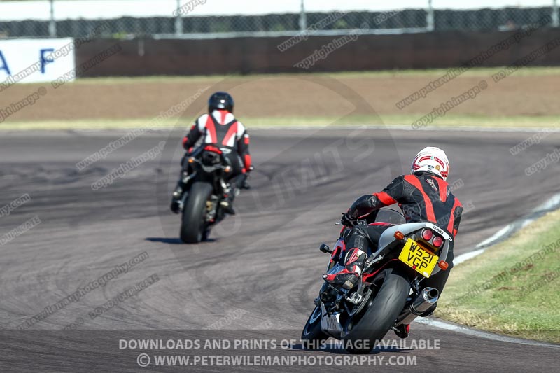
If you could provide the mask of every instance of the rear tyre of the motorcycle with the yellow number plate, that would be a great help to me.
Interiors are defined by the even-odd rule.
[[[410,283],[397,269],[388,268],[376,276],[384,279],[370,307],[357,325],[342,337],[349,353],[370,353],[393,327],[395,320],[405,307],[410,292]],[[347,328],[347,327],[346,327]]]

